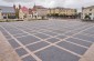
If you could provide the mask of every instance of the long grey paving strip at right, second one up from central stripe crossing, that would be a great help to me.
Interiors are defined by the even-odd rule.
[[[71,41],[71,42],[74,42],[74,43],[77,43],[77,44],[81,44],[81,45],[85,45],[85,47],[92,45],[91,42],[85,42],[85,41],[82,41],[82,40],[79,40],[79,39],[73,39],[73,38],[69,38],[69,39],[66,39],[66,41]]]

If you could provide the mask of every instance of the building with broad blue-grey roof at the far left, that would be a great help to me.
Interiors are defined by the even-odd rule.
[[[13,7],[0,6],[0,11],[1,11],[2,19],[14,19],[15,18],[15,10]]]

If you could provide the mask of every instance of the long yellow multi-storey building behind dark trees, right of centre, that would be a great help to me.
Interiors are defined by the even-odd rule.
[[[50,8],[48,10],[49,16],[59,16],[59,17],[66,17],[66,18],[74,18],[76,16],[76,9],[71,8]]]

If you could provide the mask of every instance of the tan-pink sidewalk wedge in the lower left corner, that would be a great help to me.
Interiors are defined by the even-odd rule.
[[[21,61],[0,32],[0,61]]]

